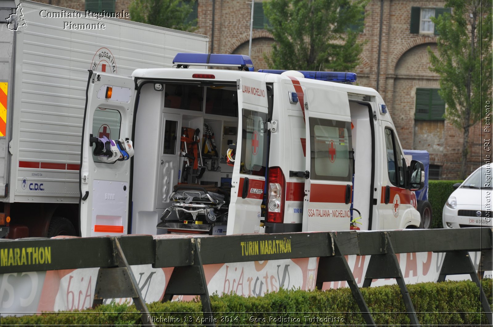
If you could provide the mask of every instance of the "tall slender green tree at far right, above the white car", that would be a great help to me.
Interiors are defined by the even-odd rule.
[[[483,99],[492,89],[492,0],[448,0],[445,13],[432,18],[438,53],[428,47],[430,70],[440,75],[438,94],[447,104],[445,119],[463,131],[460,178],[466,176],[469,129],[485,117]]]

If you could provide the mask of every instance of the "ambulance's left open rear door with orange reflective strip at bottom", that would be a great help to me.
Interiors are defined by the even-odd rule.
[[[82,237],[129,232],[130,160],[111,162],[110,157],[95,155],[94,150],[105,137],[132,140],[135,94],[131,77],[90,73],[80,169]]]

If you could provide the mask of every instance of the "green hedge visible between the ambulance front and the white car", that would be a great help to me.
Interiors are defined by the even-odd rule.
[[[431,204],[433,213],[431,217],[431,228],[443,228],[443,206],[452,192],[454,192],[453,185],[456,183],[462,183],[462,181],[428,181],[428,201]]]

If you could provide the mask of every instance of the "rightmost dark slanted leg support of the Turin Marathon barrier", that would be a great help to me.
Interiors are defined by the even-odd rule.
[[[491,264],[491,261],[489,262]],[[445,277],[447,275],[462,275],[469,274],[471,276],[471,280],[476,283],[479,287],[480,295],[481,295],[481,306],[488,318],[488,322],[490,325],[493,325],[493,313],[490,307],[490,303],[488,303],[488,298],[486,297],[485,291],[483,290],[483,286],[481,285],[481,281],[476,274],[476,269],[474,268],[474,264],[469,257],[469,252],[467,251],[451,251],[445,253],[445,258],[443,260],[442,269],[440,270],[440,275],[438,277],[438,282],[445,281]]]

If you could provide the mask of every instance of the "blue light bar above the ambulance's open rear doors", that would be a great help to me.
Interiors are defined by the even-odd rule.
[[[173,64],[178,68],[187,68],[190,65],[239,67],[253,71],[253,63],[250,57],[244,55],[225,55],[216,53],[178,53],[173,59]]]

